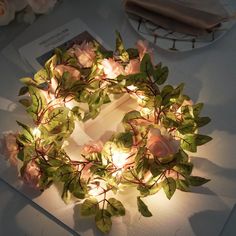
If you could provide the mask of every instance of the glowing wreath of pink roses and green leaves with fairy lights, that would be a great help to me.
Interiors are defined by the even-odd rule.
[[[183,84],[164,85],[168,68],[154,65],[146,42],[125,49],[120,34],[116,36],[114,52],[84,41],[57,49],[33,78],[22,78],[19,102],[33,125],[17,122],[21,131],[4,136],[5,154],[11,162],[16,156],[22,161],[24,183],[40,190],[62,183],[63,200],[77,198],[81,215],[94,215],[104,233],[111,229],[111,217],[125,215],[114,197],[120,189],[137,188],[138,211],[150,217],[144,197],[163,189],[170,199],[176,189],[189,191],[209,181],[191,175],[187,153],[211,140],[198,133],[210,122],[200,116],[203,104],[193,104],[183,94]],[[75,122],[97,117],[114,94],[129,94],[137,110],[124,115],[122,132],[105,143],[88,143],[80,158],[72,160],[65,144]]]

